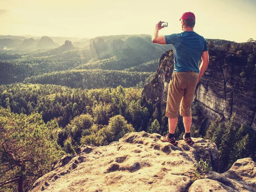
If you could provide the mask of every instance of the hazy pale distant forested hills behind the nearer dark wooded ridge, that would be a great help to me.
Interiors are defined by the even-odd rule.
[[[153,66],[153,69],[158,67],[154,61],[172,48],[170,45],[152,44],[150,35],[115,35],[90,41],[89,49],[75,49],[65,42],[61,47],[45,51],[0,50],[0,84],[23,82],[28,77],[72,69],[124,70],[135,67],[128,71],[154,72],[149,70]],[[125,79],[128,73],[123,74]],[[141,75],[145,76],[144,73]]]

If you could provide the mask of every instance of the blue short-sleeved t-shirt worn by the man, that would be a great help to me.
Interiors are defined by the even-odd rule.
[[[199,73],[202,53],[208,51],[206,40],[194,31],[165,35],[166,44],[174,47],[173,72],[195,71]]]

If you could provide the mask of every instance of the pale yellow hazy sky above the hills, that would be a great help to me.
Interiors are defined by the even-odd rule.
[[[160,20],[168,22],[165,35],[182,32],[179,19],[189,11],[205,38],[256,39],[256,0],[0,0],[0,35],[152,35]]]

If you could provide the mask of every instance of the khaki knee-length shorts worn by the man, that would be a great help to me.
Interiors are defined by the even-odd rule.
[[[180,116],[191,116],[191,103],[195,94],[195,87],[199,74],[195,71],[172,73],[169,83],[166,116],[176,118],[180,109]]]

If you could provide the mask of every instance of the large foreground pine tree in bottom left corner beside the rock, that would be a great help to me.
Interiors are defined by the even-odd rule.
[[[0,187],[4,191],[29,191],[35,180],[51,170],[64,154],[51,137],[55,129],[58,124],[46,125],[39,113],[27,116],[0,108]],[[9,188],[13,182],[17,186]]]

